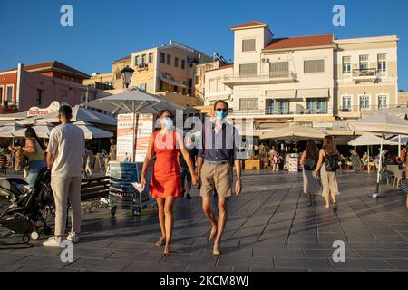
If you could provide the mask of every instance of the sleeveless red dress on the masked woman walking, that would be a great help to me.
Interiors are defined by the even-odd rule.
[[[166,135],[161,135],[160,131],[154,131],[153,138],[156,162],[149,186],[151,197],[167,198],[173,196],[181,198],[179,150],[176,146],[176,131],[171,131]],[[172,142],[170,140],[166,142],[167,138],[172,138]]]

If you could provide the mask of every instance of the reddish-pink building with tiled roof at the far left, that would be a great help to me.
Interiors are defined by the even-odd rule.
[[[81,84],[89,75],[63,63],[49,62],[0,72],[0,113],[48,107],[53,101],[77,105],[96,99],[94,88]]]

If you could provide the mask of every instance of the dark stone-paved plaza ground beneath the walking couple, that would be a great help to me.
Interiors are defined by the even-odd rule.
[[[382,185],[386,198],[375,200],[374,174],[342,173],[337,210],[318,199],[308,208],[301,174],[247,171],[244,192],[230,198],[223,255],[206,242],[209,222],[199,191],[175,205],[172,248],[161,255],[156,212],[141,217],[107,209],[84,214],[74,262],[60,261],[61,249],[0,250],[0,271],[407,271],[408,210],[402,191]],[[216,205],[214,203],[214,205]],[[335,263],[333,242],[345,242],[345,263]]]

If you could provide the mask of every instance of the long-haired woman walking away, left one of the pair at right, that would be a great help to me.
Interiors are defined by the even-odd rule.
[[[300,164],[303,166],[303,192],[305,192],[309,200],[307,203],[308,207],[316,204],[315,196],[321,192],[319,180],[314,174],[318,160],[319,149],[314,140],[308,140],[306,150],[300,158]]]

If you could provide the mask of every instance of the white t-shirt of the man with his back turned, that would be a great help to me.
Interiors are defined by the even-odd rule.
[[[54,177],[81,177],[85,136],[83,131],[73,124],[58,125],[50,133],[47,152],[54,154]]]

